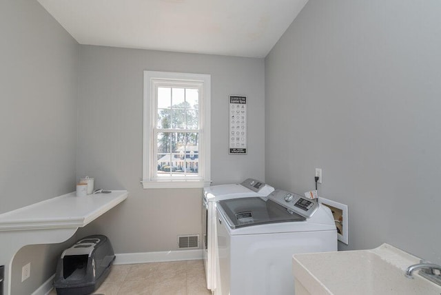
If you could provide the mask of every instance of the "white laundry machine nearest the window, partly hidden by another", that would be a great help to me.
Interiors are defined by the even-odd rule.
[[[216,201],[267,196],[271,192],[274,192],[274,187],[256,179],[247,179],[240,184],[214,185],[204,188],[202,202],[203,256],[208,289],[214,291],[216,288]]]

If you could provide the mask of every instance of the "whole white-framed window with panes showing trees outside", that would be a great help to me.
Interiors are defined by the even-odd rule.
[[[209,75],[144,72],[144,188],[209,185],[209,111]]]

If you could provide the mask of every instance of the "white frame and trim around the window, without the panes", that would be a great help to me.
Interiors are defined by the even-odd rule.
[[[156,87],[161,83],[176,82],[202,84],[199,94],[199,136],[198,145],[198,176],[177,178],[175,176],[156,177],[157,160],[154,149],[157,147],[155,132]],[[188,74],[178,72],[144,71],[144,113],[143,113],[143,179],[141,183],[147,188],[194,188],[210,185],[210,110],[211,110],[211,76],[209,74]],[[173,130],[171,130],[173,131]],[[185,131],[185,130],[182,130]]]

